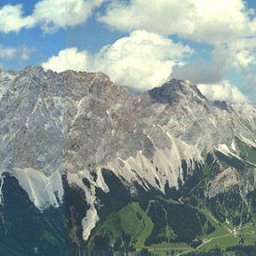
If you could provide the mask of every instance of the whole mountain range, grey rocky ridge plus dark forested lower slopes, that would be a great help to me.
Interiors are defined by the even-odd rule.
[[[0,254],[254,246],[249,104],[189,81],[133,95],[102,73],[32,66],[0,71],[0,141]]]

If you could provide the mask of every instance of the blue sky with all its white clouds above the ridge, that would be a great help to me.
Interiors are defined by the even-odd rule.
[[[1,1],[0,66],[101,71],[139,90],[175,77],[255,104],[255,12],[254,0]]]

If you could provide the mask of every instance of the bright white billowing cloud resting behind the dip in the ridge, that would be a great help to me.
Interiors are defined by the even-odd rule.
[[[174,43],[165,36],[135,31],[94,55],[67,48],[42,65],[59,72],[67,68],[101,71],[119,85],[143,90],[164,83],[172,67],[182,64],[193,52],[191,47]]]

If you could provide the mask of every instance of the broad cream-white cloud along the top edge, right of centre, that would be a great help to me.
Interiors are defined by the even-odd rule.
[[[113,0],[98,20],[120,31],[143,29],[215,44],[249,34],[249,14],[243,0]]]

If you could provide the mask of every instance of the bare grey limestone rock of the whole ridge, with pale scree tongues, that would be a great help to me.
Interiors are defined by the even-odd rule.
[[[213,149],[237,155],[235,137],[255,143],[255,110],[212,104],[188,81],[173,79],[135,97],[101,73],[40,67],[0,73],[1,173],[15,176],[41,210],[61,204],[66,174],[90,206],[85,239],[99,219],[95,188],[108,192],[102,168],[130,191],[138,182],[165,193],[167,183],[183,182],[182,162],[192,174]]]

